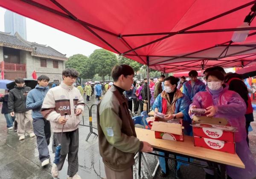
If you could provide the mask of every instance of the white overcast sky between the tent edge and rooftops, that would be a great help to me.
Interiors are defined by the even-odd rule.
[[[5,12],[6,9],[0,7],[1,32],[4,32]],[[86,42],[29,18],[26,18],[26,33],[28,41],[51,46],[57,51],[67,54],[67,57],[78,53],[89,56],[95,49],[100,48],[92,43]]]

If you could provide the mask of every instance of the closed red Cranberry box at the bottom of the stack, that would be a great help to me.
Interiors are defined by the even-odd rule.
[[[227,153],[236,153],[235,143],[225,142],[215,139],[207,139],[194,136],[194,144],[197,147],[204,147],[207,149],[218,150]]]

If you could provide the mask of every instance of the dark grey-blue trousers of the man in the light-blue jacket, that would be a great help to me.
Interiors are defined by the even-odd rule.
[[[33,128],[38,146],[39,160],[43,162],[50,157],[48,145],[51,138],[51,124],[50,121],[44,118],[33,119]]]

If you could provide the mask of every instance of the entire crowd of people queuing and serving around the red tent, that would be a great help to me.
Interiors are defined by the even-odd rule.
[[[84,110],[83,96],[86,95],[86,100],[90,101],[94,92],[99,100],[99,152],[107,179],[132,179],[134,153],[153,151],[148,142],[137,138],[130,115],[131,111],[137,115],[139,111],[149,110],[148,106],[154,113],[165,115],[163,119],[155,115],[159,121],[182,118],[183,132],[189,136],[192,136],[190,124],[193,108],[206,109],[207,116],[226,118],[230,126],[238,129],[235,133],[236,153],[245,165],[245,169],[227,165],[227,176],[232,179],[253,179],[256,176],[256,163],[248,139],[248,129],[253,121],[249,92],[255,92],[256,87],[247,86],[236,73],[226,74],[221,66],[206,69],[204,75],[206,84],[198,79],[198,73],[194,70],[189,72],[188,81],[185,77],[178,79],[161,75],[158,79],[144,78],[139,84],[134,81],[131,66],[118,65],[111,72],[114,82],[104,85],[97,83],[94,87],[87,83],[84,87],[76,88],[73,84],[79,76],[78,72],[65,69],[61,84],[51,89],[48,87],[50,79],[46,75],[38,77],[38,85],[32,90],[26,87],[22,78],[16,78],[15,88],[6,91],[0,101],[3,102],[2,113],[6,117],[8,129],[12,129],[16,122],[14,128],[17,128],[19,140],[24,140],[26,134],[29,137],[36,136],[42,166],[50,163],[48,145],[52,129],[53,146],[61,144],[60,160],[52,165],[53,177],[58,177],[67,156],[68,178],[81,178],[77,174],[80,114]],[[178,173],[182,164],[178,163]],[[161,176],[170,172],[162,157],[160,167]],[[214,178],[212,170],[205,172],[207,179]]]

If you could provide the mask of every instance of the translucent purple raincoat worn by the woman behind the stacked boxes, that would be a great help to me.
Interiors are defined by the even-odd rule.
[[[209,106],[218,106],[214,117],[226,118],[229,124],[239,130],[235,133],[236,153],[245,165],[245,169],[227,165],[227,174],[232,179],[253,179],[256,176],[256,163],[246,142],[245,117],[246,104],[240,95],[224,89],[211,91],[206,87],[205,92],[198,92],[190,107],[206,109]],[[190,108],[189,107],[189,108]]]

